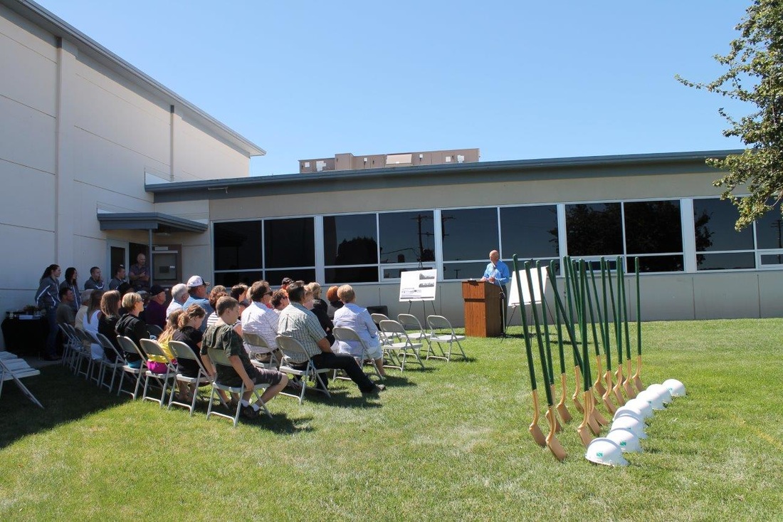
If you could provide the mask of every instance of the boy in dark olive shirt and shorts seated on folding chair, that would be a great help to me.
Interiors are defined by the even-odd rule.
[[[250,398],[253,396],[253,390],[256,384],[268,384],[269,388],[261,396],[261,401],[268,404],[272,401],[280,390],[286,387],[288,376],[276,370],[258,369],[251,364],[247,357],[247,351],[242,344],[242,338],[234,331],[233,325],[240,317],[240,303],[225,295],[218,299],[215,312],[220,319],[204,332],[204,339],[201,343],[201,361],[204,362],[204,368],[211,375],[215,375],[215,368],[212,365],[207,350],[215,348],[223,350],[229,357],[231,368],[218,366],[215,381],[227,386],[242,386],[244,382],[245,391],[242,394],[241,413],[247,418],[254,419],[258,417],[261,410],[258,402],[250,404]]]

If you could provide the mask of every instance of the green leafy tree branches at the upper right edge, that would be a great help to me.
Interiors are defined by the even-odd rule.
[[[740,36],[731,42],[730,52],[715,56],[728,67],[725,74],[709,83],[689,82],[679,74],[676,78],[689,87],[755,106],[739,119],[723,108],[718,111],[731,125],[723,136],[740,138],[746,148],[742,154],[707,160],[727,171],[713,185],[723,187],[721,198],[738,207],[735,227],[742,230],[783,198],[783,2],[755,0],[735,28]]]

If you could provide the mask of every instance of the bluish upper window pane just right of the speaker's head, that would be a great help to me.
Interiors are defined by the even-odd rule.
[[[555,205],[500,208],[500,234],[507,259],[560,256]]]

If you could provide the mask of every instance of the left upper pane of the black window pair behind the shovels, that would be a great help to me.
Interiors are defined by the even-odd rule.
[[[622,254],[619,203],[565,205],[568,256]]]

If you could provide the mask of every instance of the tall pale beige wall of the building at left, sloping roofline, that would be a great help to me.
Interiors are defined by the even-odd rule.
[[[50,263],[63,273],[75,266],[80,286],[93,265],[108,281],[109,240],[148,242],[143,230],[100,230],[99,212],[168,212],[207,223],[206,203],[154,205],[146,174],[162,182],[249,174],[251,153],[226,138],[233,131],[206,129],[189,107],[172,113],[171,101],[149,84],[80,52],[80,45],[58,42],[0,5],[0,237],[7,248],[0,313],[33,304]],[[154,241],[182,244],[185,273],[207,277],[209,237]]]

